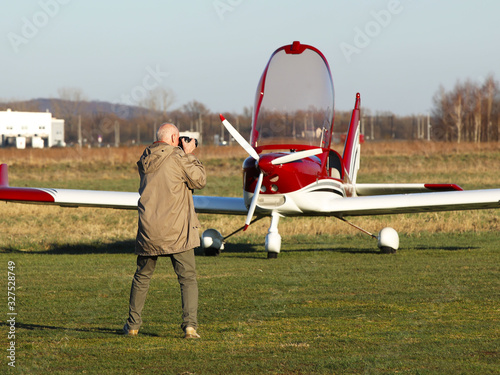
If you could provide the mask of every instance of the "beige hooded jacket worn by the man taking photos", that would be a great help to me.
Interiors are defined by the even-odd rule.
[[[205,168],[192,154],[155,142],[137,162],[139,225],[137,255],[181,253],[200,245],[200,222],[194,211],[192,189],[206,184]]]

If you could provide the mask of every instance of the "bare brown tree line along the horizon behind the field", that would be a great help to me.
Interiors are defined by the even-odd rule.
[[[154,140],[156,129],[164,122],[178,125],[181,131],[198,132],[198,141],[205,145],[231,143],[218,113],[211,112],[196,100],[171,110],[173,102],[173,94],[163,89],[149,93],[137,106],[129,106],[88,101],[80,89],[65,88],[59,90],[57,99],[0,103],[0,110],[49,110],[53,117],[65,120],[65,141],[68,145],[148,144]],[[251,107],[245,107],[241,113],[224,115],[248,138],[252,112]],[[287,118],[287,122],[304,123],[303,113],[295,116],[297,118]],[[341,135],[347,132],[350,117],[351,111],[335,113],[334,142],[340,142]],[[312,121],[313,116],[309,119]],[[310,126],[314,130],[314,122]],[[458,81],[449,91],[441,86],[433,97],[431,112],[423,115],[396,116],[391,112],[362,109],[361,130],[366,141],[499,141],[500,85],[491,75],[483,83]]]

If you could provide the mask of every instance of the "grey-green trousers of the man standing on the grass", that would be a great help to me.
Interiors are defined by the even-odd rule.
[[[196,281],[196,263],[194,250],[188,250],[178,254],[164,255],[169,257],[177,274],[177,280],[181,287],[182,299],[182,324],[181,328],[198,328],[198,283]],[[129,317],[127,324],[129,329],[139,329],[142,324],[141,313],[146,301],[149,282],[153,277],[156,267],[157,256],[137,257],[137,270],[132,280],[130,290]]]

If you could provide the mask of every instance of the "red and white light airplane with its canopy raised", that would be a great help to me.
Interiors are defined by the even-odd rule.
[[[243,198],[194,196],[198,213],[271,216],[265,239],[269,258],[281,249],[280,217],[402,214],[500,208],[500,189],[463,191],[455,184],[360,184],[360,95],[356,94],[342,156],[330,148],[334,90],[330,67],[316,48],[293,42],[271,56],[255,97],[250,141],[222,115],[231,136],[246,150]],[[0,167],[0,200],[60,206],[137,209],[138,193],[8,186],[7,165]],[[392,228],[371,234],[383,252],[395,252],[399,237]],[[237,230],[236,232],[238,232]],[[224,246],[218,231],[202,235],[207,254]]]

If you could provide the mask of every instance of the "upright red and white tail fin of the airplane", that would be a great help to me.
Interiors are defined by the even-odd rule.
[[[342,160],[344,161],[344,182],[352,186],[352,189],[349,189],[352,195],[356,194],[356,177],[359,169],[359,122],[361,119],[359,110],[360,103],[361,97],[359,93],[357,93],[356,102],[352,111],[351,122],[349,124],[349,130],[345,140],[344,154],[342,156]]]

